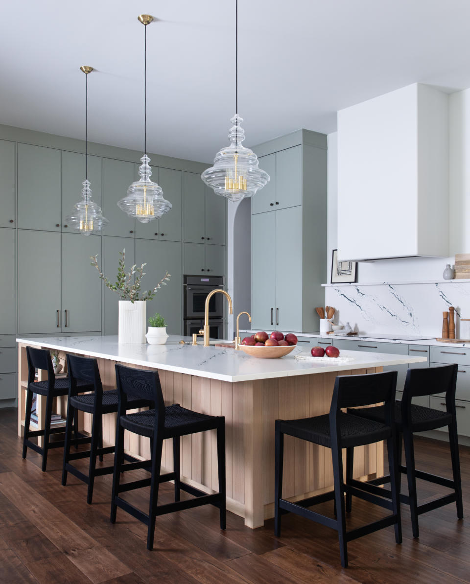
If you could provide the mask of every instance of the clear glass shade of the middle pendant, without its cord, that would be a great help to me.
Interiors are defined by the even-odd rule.
[[[139,168],[140,180],[136,180],[127,189],[127,197],[121,199],[117,206],[141,223],[148,223],[163,214],[168,213],[172,204],[163,199],[161,186],[150,180],[152,169],[149,166],[150,158],[144,154]]]

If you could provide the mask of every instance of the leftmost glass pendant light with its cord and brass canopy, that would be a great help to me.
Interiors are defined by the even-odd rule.
[[[82,65],[80,70],[86,75],[86,106],[85,106],[85,180],[83,181],[83,200],[76,203],[74,210],[67,216],[67,223],[83,235],[99,234],[109,221],[103,217],[100,207],[91,200],[92,191],[88,180],[88,74],[93,67]]]

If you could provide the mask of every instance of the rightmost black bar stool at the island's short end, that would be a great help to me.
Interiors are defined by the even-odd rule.
[[[402,503],[406,503],[410,506],[413,537],[419,537],[418,516],[427,511],[437,509],[438,507],[448,505],[448,503],[453,503],[455,501],[457,505],[458,519],[463,519],[464,517],[458,453],[457,415],[455,413],[457,369],[457,364],[429,367],[429,369],[409,369],[406,374],[402,401],[397,401],[395,403],[396,432],[399,449],[399,471],[408,476],[409,492],[408,495],[401,494],[400,500]],[[445,393],[445,412],[412,404],[413,397],[434,395],[443,392]],[[352,412],[352,410],[349,411]],[[384,408],[382,406],[359,409],[354,413],[363,418],[375,420],[377,422],[383,422],[384,420]],[[416,470],[415,468],[413,433],[435,430],[443,426],[448,426],[449,430],[453,480],[439,477],[438,475],[430,474],[429,472]],[[401,465],[402,437],[403,442],[405,443],[406,467]],[[347,457],[347,460],[349,461],[349,470],[346,471],[346,474],[349,476],[353,465],[352,452],[350,453],[350,456]],[[416,493],[417,478],[433,482],[437,485],[447,486],[454,492],[434,499],[428,503],[424,503],[423,505],[418,505]],[[381,485],[386,482],[389,482],[388,476],[369,481],[369,484]],[[382,490],[387,492],[385,489]],[[350,500],[347,503],[349,506],[351,505]]]

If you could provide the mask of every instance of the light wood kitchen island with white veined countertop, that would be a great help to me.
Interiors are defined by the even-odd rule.
[[[23,432],[27,382],[26,346],[55,350],[65,369],[67,353],[98,359],[103,388],[115,387],[114,364],[156,369],[165,404],[211,415],[225,416],[227,509],[245,518],[249,527],[259,527],[274,516],[274,420],[307,418],[329,412],[337,374],[364,374],[382,366],[420,362],[424,357],[342,351],[346,363],[331,359],[295,359],[302,347],[282,359],[256,359],[224,347],[180,344],[170,336],[165,345],[119,345],[117,336],[69,336],[18,338],[19,389],[18,432]],[[304,353],[306,354],[306,353]],[[55,411],[65,417],[66,399],[58,399]],[[38,402],[39,425],[44,407]],[[116,415],[103,416],[103,440],[114,443]],[[90,430],[90,416],[81,425]],[[166,440],[162,466],[172,470],[172,442]],[[149,442],[126,433],[126,450],[149,457]],[[215,431],[184,436],[181,441],[184,481],[211,492],[218,488]],[[380,476],[384,467],[383,444],[356,449],[354,476]],[[284,444],[284,498],[297,500],[332,489],[333,468],[329,449],[287,437]]]

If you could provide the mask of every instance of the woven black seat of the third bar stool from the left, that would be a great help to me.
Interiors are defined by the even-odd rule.
[[[155,427],[155,409],[148,409],[145,412],[127,413],[121,416],[120,423],[124,429],[130,430],[130,432],[135,432],[141,436],[152,437],[154,436]],[[165,430],[163,438],[213,430],[217,427],[218,423],[216,416],[193,412],[177,404],[169,405],[165,408]]]

